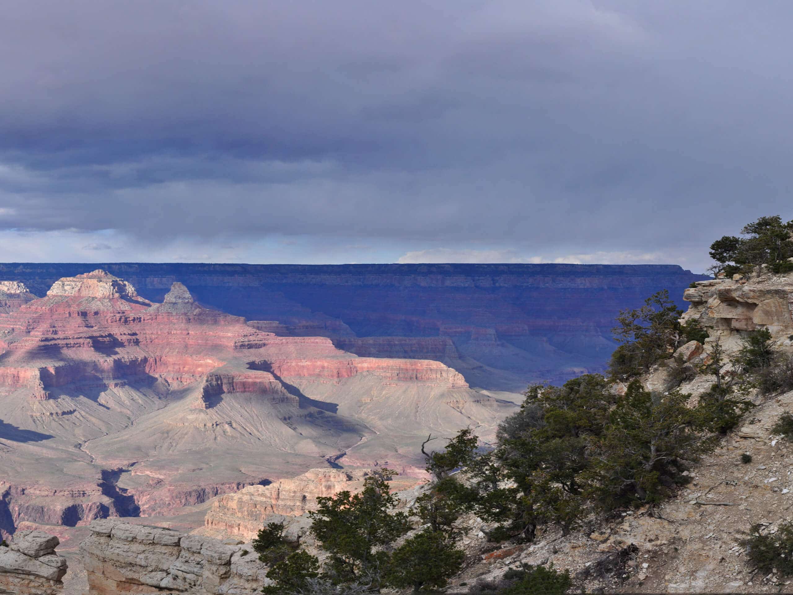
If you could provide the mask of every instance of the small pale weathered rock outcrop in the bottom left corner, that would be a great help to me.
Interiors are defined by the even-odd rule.
[[[59,539],[42,531],[20,531],[0,547],[0,593],[56,595],[63,590],[67,562],[56,554]]]

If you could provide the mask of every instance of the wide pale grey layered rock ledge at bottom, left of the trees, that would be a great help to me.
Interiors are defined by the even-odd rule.
[[[92,595],[255,593],[268,584],[250,544],[228,545],[166,528],[96,520],[80,544]],[[243,551],[247,554],[243,555]]]

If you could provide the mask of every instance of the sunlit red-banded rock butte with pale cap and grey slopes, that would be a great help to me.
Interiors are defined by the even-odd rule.
[[[24,297],[0,315],[4,536],[166,514],[326,459],[415,473],[427,433],[490,440],[515,409],[443,363],[277,336],[181,283],[153,303],[99,270],[8,295]]]

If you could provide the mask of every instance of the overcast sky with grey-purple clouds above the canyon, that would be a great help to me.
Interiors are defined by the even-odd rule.
[[[7,0],[0,261],[676,263],[793,219],[787,0]]]

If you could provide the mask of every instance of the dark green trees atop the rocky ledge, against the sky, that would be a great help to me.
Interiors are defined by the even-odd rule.
[[[777,274],[793,271],[793,221],[783,223],[778,215],[760,217],[745,225],[741,236],[723,236],[711,244],[711,258],[726,274],[751,273],[768,265]]]

